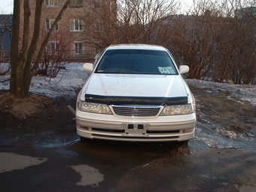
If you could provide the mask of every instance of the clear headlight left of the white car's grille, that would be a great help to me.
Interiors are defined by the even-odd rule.
[[[97,114],[112,114],[108,105],[93,103],[93,102],[83,102],[80,101],[78,103],[78,108],[80,111],[85,111],[89,113],[97,113]]]

